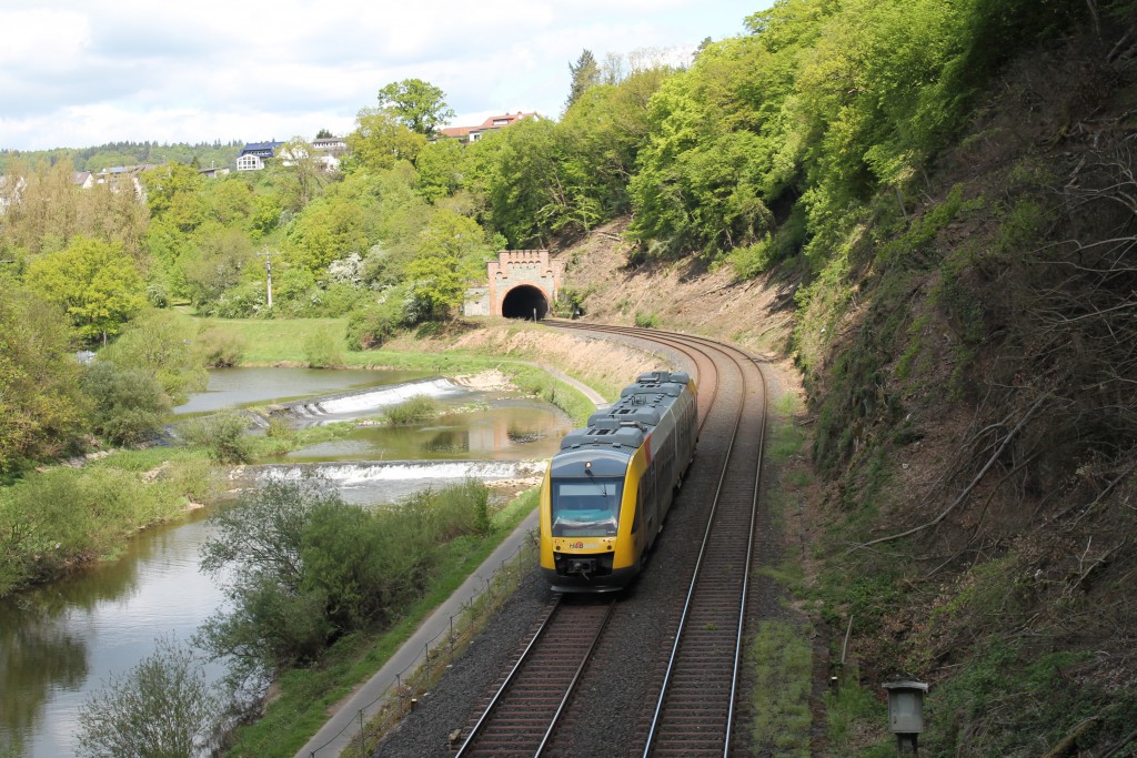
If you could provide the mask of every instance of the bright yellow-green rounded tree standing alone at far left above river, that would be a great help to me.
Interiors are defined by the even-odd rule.
[[[33,261],[27,285],[61,306],[86,342],[106,343],[146,307],[146,285],[123,247],[84,236]]]

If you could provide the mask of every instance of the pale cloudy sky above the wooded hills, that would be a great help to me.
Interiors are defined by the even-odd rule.
[[[0,0],[0,150],[347,134],[379,89],[451,126],[557,118],[584,49],[683,60],[772,0]]]

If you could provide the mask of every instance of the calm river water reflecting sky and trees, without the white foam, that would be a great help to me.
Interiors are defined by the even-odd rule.
[[[297,397],[357,391],[422,374],[230,369],[211,375],[209,390],[181,414],[267,405]],[[440,402],[478,410],[446,414],[423,426],[362,427],[350,436],[281,459],[313,461],[540,459],[555,452],[571,423],[556,408],[508,393],[457,389]],[[360,413],[360,415],[366,415]],[[420,483],[429,483],[422,464]],[[376,481],[352,488],[352,502],[389,501],[406,486]],[[221,607],[213,580],[198,570],[208,538],[206,513],[138,535],[121,560],[82,576],[0,600],[0,757],[57,758],[75,751],[76,714],[92,692],[150,655],[160,636],[189,642]],[[219,677],[218,666],[209,669]],[[7,751],[6,751],[7,749]]]

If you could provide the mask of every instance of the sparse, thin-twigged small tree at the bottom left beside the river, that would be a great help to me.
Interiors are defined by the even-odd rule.
[[[82,758],[194,758],[213,747],[222,699],[193,655],[168,639],[80,710]]]

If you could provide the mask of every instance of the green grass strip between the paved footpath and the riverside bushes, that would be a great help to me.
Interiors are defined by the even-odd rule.
[[[428,593],[389,630],[356,634],[340,640],[309,668],[291,670],[277,681],[280,697],[256,723],[242,726],[229,755],[249,758],[287,758],[323,726],[329,709],[373,675],[423,619],[450,597],[466,577],[537,507],[537,489],[522,493],[495,514],[493,532],[481,539],[463,538],[451,543]]]

